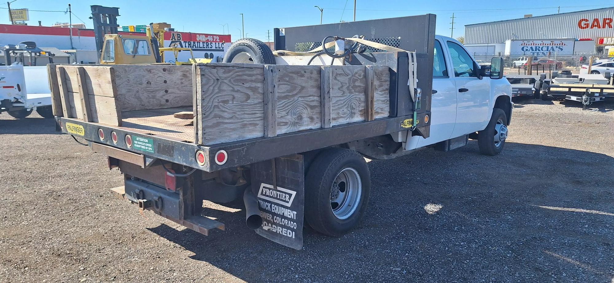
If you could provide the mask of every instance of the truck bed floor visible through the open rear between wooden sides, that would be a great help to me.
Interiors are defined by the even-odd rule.
[[[160,135],[174,140],[194,142],[192,119],[174,118],[173,114],[192,111],[192,107],[122,112],[122,127],[143,134]]]

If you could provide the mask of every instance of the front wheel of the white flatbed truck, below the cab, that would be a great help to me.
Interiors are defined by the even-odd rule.
[[[480,153],[495,156],[503,150],[505,139],[507,139],[507,116],[499,108],[492,110],[491,121],[486,129],[478,132],[478,148]]]

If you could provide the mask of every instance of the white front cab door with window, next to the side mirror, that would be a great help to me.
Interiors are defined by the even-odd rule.
[[[446,40],[456,85],[456,126],[452,138],[483,130],[490,118],[490,78],[478,78],[479,65],[456,41]]]

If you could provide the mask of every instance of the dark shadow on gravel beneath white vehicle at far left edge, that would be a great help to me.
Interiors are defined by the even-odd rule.
[[[55,119],[24,118],[12,119],[0,114],[0,134],[61,134],[55,131]]]

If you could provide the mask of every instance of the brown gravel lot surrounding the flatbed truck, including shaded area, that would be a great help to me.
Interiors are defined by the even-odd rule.
[[[371,161],[363,225],[294,251],[205,204],[203,236],[117,200],[117,170],[53,121],[0,115],[0,282],[614,282],[614,104],[523,100],[476,142]],[[412,173],[419,173],[419,177]]]

